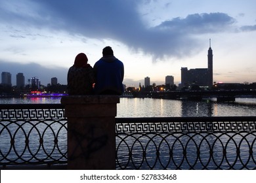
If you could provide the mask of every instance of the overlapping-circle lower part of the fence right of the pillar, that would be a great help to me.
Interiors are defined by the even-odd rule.
[[[256,132],[116,136],[117,169],[256,169]]]

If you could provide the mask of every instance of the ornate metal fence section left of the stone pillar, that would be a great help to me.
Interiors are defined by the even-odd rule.
[[[67,163],[64,106],[0,105],[0,165]]]

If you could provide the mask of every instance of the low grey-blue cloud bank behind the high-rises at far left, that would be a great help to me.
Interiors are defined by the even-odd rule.
[[[47,85],[51,83],[51,78],[58,78],[58,83],[66,84],[66,75],[68,69],[62,67],[53,67],[51,69],[43,67],[37,63],[14,63],[0,60],[0,73],[8,72],[12,75],[12,86],[16,85],[16,75],[23,73],[25,76],[25,83],[28,84],[28,79],[34,76],[39,77],[41,84]]]

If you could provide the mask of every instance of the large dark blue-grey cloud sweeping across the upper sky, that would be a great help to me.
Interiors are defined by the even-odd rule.
[[[152,55],[153,59],[188,56],[200,50],[194,35],[223,32],[235,22],[227,14],[216,12],[190,14],[186,18],[172,18],[156,27],[146,27],[137,10],[141,1],[137,0],[33,2],[40,7],[37,18],[24,18],[22,14],[18,21],[26,20],[26,24],[40,28],[65,30],[94,39],[114,39],[131,50]],[[17,14],[12,18],[14,16],[17,18]]]

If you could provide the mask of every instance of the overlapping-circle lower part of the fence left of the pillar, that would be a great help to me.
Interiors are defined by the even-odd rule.
[[[67,161],[66,120],[15,120],[0,123],[1,164]]]

